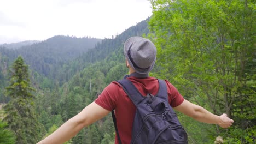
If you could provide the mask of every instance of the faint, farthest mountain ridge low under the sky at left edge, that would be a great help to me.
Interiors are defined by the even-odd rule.
[[[10,43],[10,44],[1,44],[0,47],[5,47],[7,49],[19,49],[22,46],[30,46],[35,43],[39,43],[39,40],[26,40],[26,41],[21,41],[19,43]]]

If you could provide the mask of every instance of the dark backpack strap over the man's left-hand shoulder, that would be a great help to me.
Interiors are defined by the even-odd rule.
[[[138,89],[132,84],[131,81],[127,79],[121,79],[121,80],[118,80],[117,82],[120,83],[125,93],[132,100],[132,103],[135,104],[135,106],[137,107],[137,105],[141,103],[141,101],[144,99],[144,97],[141,95]]]

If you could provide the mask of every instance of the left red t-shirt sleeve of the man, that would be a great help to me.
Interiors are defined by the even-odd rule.
[[[119,87],[115,82],[110,83],[94,102],[104,109],[112,111],[118,103]]]

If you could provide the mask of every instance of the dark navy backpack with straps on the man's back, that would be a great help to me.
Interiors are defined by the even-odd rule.
[[[137,107],[133,120],[131,143],[188,143],[186,131],[168,104],[166,83],[160,79],[158,81],[158,94],[153,96],[148,93],[147,97],[143,97],[131,81],[127,79],[117,81]],[[119,143],[121,143],[114,111],[112,111],[112,117]]]

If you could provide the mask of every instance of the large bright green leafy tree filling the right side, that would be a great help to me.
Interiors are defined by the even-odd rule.
[[[170,79],[185,98],[234,118],[228,133],[216,127],[212,135],[255,142],[253,1],[150,2],[160,67],[155,75]]]

